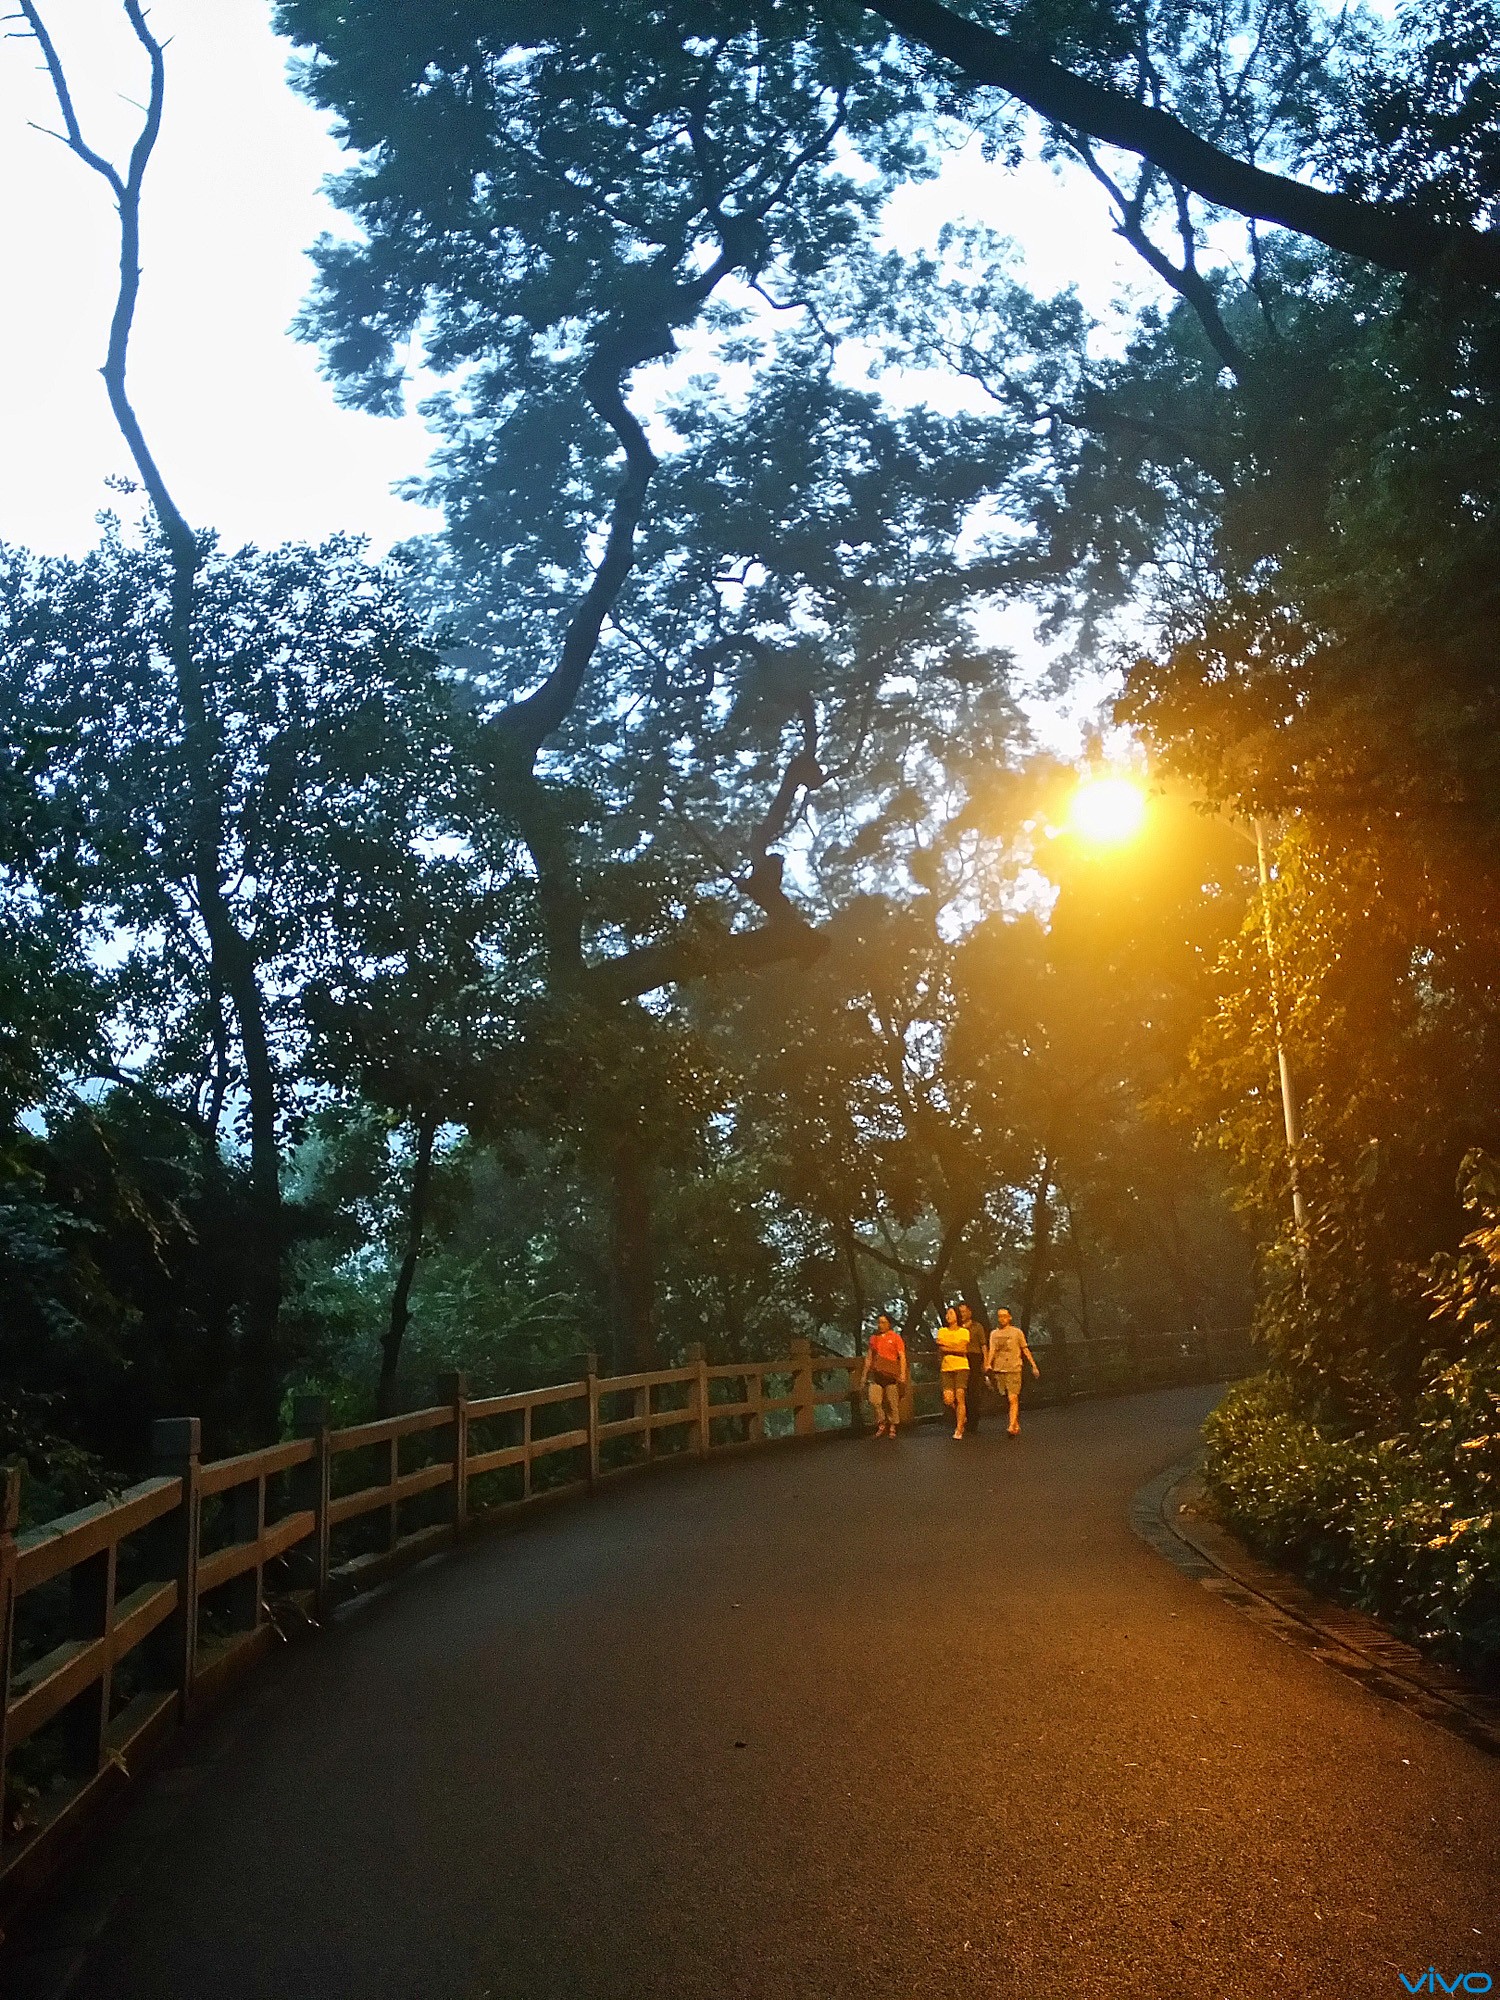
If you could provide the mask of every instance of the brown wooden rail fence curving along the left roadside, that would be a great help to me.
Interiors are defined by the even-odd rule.
[[[1096,1380],[1076,1358],[1058,1394],[1242,1372],[1182,1340],[1126,1344]],[[1238,1362],[1238,1354],[1234,1358]],[[0,1470],[0,1924],[34,1894],[88,1818],[210,1694],[276,1642],[286,1616],[346,1594],[470,1526],[554,1494],[596,1490],[662,1456],[708,1458],[772,1438],[862,1428],[860,1360],[792,1342],[784,1360],[600,1376],[470,1396],[332,1428],[302,1398],[296,1436],[202,1462],[198,1418],[154,1428],[156,1476],[114,1500],[16,1532],[20,1474]],[[1108,1378],[1108,1380],[1106,1380]],[[916,1382],[908,1412],[936,1406]],[[510,1428],[506,1442],[486,1438]]]

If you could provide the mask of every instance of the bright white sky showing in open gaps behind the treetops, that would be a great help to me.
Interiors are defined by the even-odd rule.
[[[118,0],[50,0],[46,18],[74,76],[90,140],[128,152],[146,88]],[[342,156],[322,114],[286,80],[288,46],[268,0],[154,0],[170,38],[168,102],[144,202],[142,300],[132,392],[146,434],[194,526],[230,544],[366,534],[376,550],[434,526],[392,486],[422,470],[420,416],[342,410],[316,350],[290,322],[306,296],[308,246],[342,228],[322,184]],[[98,376],[118,242],[102,180],[32,126],[56,126],[40,54],[0,42],[0,214],[12,310],[0,314],[0,540],[76,554],[128,472]],[[974,214],[1016,236],[1036,286],[1078,284],[1100,312],[1140,284],[1086,178],[1060,184],[1030,162],[988,166],[964,148],[934,188],[900,192],[898,246]]]

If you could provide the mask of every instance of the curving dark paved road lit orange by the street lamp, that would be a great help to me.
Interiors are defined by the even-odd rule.
[[[1208,1402],[692,1468],[408,1576],[150,1780],[22,1972],[72,1964],[86,2000],[1500,1980],[1500,1764],[1130,1534]]]

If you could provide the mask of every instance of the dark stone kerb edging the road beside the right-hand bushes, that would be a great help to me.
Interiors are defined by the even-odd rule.
[[[1370,1694],[1500,1756],[1500,1698],[1424,1658],[1380,1620],[1314,1596],[1294,1576],[1250,1554],[1208,1516],[1204,1500],[1204,1484],[1190,1462],[1168,1466],[1134,1494],[1130,1526],[1176,1570],[1278,1638],[1358,1680]]]

